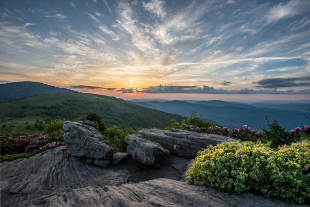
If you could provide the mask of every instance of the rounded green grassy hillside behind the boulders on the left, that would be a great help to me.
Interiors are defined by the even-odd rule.
[[[120,98],[87,93],[47,93],[0,103],[1,133],[37,130],[51,119],[74,120],[88,112],[101,117],[106,127],[157,127],[183,117],[137,106]],[[37,125],[34,127],[34,125]]]

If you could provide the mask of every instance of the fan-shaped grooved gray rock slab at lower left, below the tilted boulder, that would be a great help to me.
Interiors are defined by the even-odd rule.
[[[3,162],[0,172],[1,206],[28,206],[71,189],[119,185],[129,179],[126,168],[112,170],[87,164],[68,154],[65,146]]]

